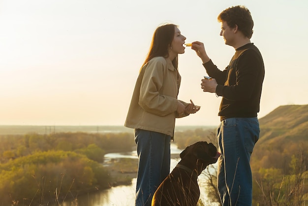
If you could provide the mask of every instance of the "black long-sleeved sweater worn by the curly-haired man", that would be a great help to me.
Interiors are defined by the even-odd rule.
[[[264,63],[253,43],[236,49],[229,66],[219,70],[212,60],[204,63],[207,73],[216,79],[216,95],[222,96],[218,116],[220,120],[232,117],[256,117],[264,79]]]

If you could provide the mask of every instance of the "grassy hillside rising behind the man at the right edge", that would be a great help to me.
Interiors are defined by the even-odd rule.
[[[308,162],[308,104],[279,106],[259,122],[260,138],[251,156],[254,172],[288,170],[294,155]]]

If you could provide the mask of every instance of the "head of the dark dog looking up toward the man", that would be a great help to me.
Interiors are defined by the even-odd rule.
[[[216,146],[206,141],[198,141],[186,147],[180,154],[182,160],[189,157],[192,162],[196,162],[197,165],[195,169],[197,169],[198,174],[208,165],[216,163],[219,156],[220,153],[217,152]]]

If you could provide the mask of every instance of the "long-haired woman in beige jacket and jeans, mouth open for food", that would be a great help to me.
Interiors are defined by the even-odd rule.
[[[175,118],[200,106],[177,99],[181,76],[178,54],[186,37],[174,24],[158,27],[140,69],[124,126],[134,128],[139,158],[136,206],[151,206],[153,194],[170,172],[170,140]]]

